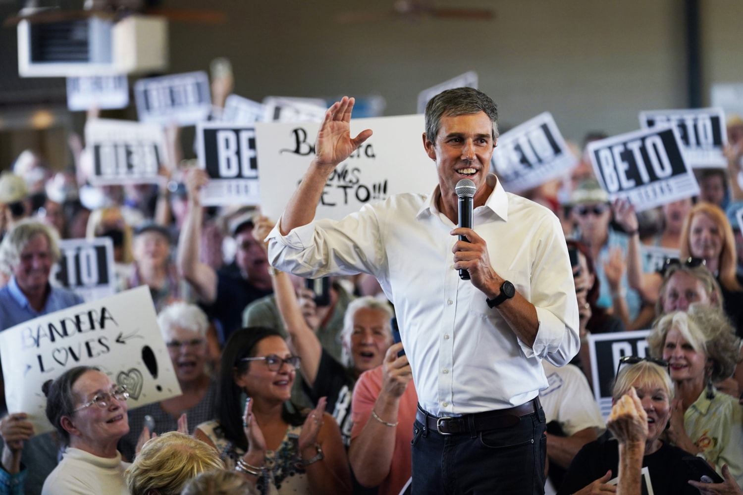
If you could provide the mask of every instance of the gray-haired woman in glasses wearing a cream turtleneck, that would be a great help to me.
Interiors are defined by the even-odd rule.
[[[129,393],[95,367],[79,366],[45,384],[46,415],[66,445],[42,495],[128,495],[116,446],[129,433]]]

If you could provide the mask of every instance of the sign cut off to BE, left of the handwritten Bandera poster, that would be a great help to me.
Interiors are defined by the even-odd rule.
[[[260,204],[256,130],[253,125],[199,122],[198,166],[210,177],[201,189],[201,203]]]

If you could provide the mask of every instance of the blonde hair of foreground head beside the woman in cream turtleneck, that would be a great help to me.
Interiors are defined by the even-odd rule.
[[[169,431],[146,442],[124,471],[124,482],[132,495],[151,490],[178,495],[198,474],[220,469],[224,462],[215,448],[185,433]]]

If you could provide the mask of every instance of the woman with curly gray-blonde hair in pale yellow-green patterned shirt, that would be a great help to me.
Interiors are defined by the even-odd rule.
[[[729,378],[739,360],[740,339],[718,309],[692,304],[687,312],[663,316],[648,336],[650,353],[669,361],[676,399],[668,437],[704,457],[721,472],[723,464],[743,482],[743,413],[738,399],[713,383]]]

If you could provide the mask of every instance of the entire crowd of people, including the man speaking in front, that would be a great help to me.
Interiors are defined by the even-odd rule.
[[[182,393],[130,410],[126,387],[73,367],[45,384],[42,435],[3,404],[0,494],[541,494],[547,479],[566,495],[743,494],[743,122],[698,197],[637,214],[585,156],[505,192],[495,105],[442,95],[426,108],[434,193],[340,221],[313,220],[371,135],[348,134],[348,98],[280,219],[202,206],[209,178],[187,160],[160,185],[100,188],[80,163],[19,157],[0,175],[0,331],[82,303],[52,279],[58,240],[108,237],[116,289],[149,287]],[[473,229],[457,228],[463,177]],[[648,355],[621,360],[604,422],[588,335],[626,330],[651,330]]]

